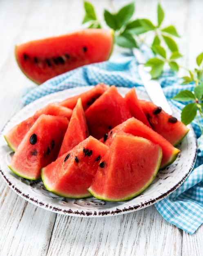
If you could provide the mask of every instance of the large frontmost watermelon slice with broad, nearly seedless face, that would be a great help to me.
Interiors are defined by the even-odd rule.
[[[141,137],[117,134],[101,158],[88,191],[101,200],[129,200],[152,183],[161,158],[158,144]]]

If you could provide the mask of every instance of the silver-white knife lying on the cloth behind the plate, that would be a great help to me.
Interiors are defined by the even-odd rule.
[[[141,50],[134,48],[133,54],[136,57],[138,62],[138,74],[141,78],[141,81],[149,95],[151,101],[158,107],[161,107],[165,112],[172,115],[172,109],[163,93],[160,83],[152,79],[152,76],[149,74],[150,67],[145,67],[145,57]]]

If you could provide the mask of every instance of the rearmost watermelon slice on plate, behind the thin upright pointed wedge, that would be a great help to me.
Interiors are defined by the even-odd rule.
[[[60,101],[58,104],[60,106],[65,106],[67,108],[74,109],[76,106],[78,98],[81,98],[84,111],[89,108],[89,106],[98,99],[106,90],[108,90],[109,85],[104,83],[99,83],[95,85],[92,89],[87,92],[82,92],[74,97],[69,97],[63,101]]]

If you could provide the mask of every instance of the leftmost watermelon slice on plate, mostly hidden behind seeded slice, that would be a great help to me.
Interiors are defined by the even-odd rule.
[[[71,109],[59,106],[58,104],[47,104],[45,107],[40,108],[40,110],[37,110],[33,116],[20,122],[19,124],[16,124],[16,126],[13,126],[13,128],[11,128],[11,130],[9,130],[6,135],[4,135],[4,138],[6,139],[9,147],[13,151],[16,151],[18,145],[26,135],[27,131],[31,128],[31,126],[38,119],[38,117],[40,117],[40,115],[59,115],[67,117],[67,119],[69,120],[72,115],[72,112],[73,111]]]

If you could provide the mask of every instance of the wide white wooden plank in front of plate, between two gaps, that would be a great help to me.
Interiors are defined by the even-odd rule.
[[[56,218],[48,256],[181,255],[181,231],[154,206],[120,216]]]

